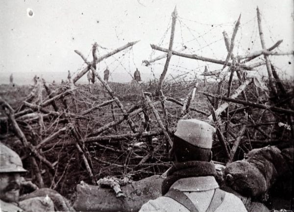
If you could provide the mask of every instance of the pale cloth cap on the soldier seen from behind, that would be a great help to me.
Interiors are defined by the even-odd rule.
[[[175,136],[199,148],[212,148],[212,136],[216,129],[198,119],[179,120]]]

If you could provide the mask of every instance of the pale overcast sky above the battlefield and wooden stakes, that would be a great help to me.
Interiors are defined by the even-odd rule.
[[[151,67],[142,60],[162,52],[152,51],[150,43],[168,48],[171,13],[176,5],[178,20],[174,49],[186,45],[186,53],[224,59],[222,39],[225,30],[231,35],[234,23],[242,13],[234,53],[242,55],[261,49],[256,21],[256,7],[262,13],[267,47],[283,39],[280,51],[294,49],[293,0],[1,0],[0,78],[10,72],[76,73],[83,65],[74,53],[86,57],[92,44],[98,44],[99,55],[127,42],[141,40],[121,54],[106,59],[113,75],[131,74],[135,68],[143,74],[158,74],[165,60]],[[33,16],[28,15],[28,8]],[[271,56],[280,71],[293,73],[293,56]],[[92,60],[91,54],[89,61]],[[172,57],[169,74],[202,72],[219,68],[210,63]],[[260,72],[264,68],[260,68]],[[57,75],[57,74],[56,74]],[[58,76],[58,75],[57,75]]]

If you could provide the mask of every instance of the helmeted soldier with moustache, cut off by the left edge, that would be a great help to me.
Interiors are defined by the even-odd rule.
[[[19,202],[21,173],[26,172],[20,156],[0,143],[0,211],[54,211],[50,198],[34,197]]]

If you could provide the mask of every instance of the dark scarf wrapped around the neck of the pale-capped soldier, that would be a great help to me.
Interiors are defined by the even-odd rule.
[[[217,171],[212,162],[204,161],[188,161],[183,163],[174,163],[167,173],[167,178],[163,180],[161,185],[162,195],[166,194],[172,184],[182,178],[215,176]]]

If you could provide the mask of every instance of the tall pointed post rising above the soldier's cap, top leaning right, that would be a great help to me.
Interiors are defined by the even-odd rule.
[[[173,44],[173,38],[174,38],[174,29],[175,29],[175,21],[177,18],[177,12],[176,12],[176,7],[174,8],[173,12],[172,12],[172,29],[171,29],[171,38],[170,38],[170,45],[169,45],[169,51],[168,51],[168,55],[167,55],[167,60],[166,63],[164,65],[164,69],[163,72],[159,78],[159,83],[158,83],[158,88],[157,88],[157,93],[159,94],[159,91],[162,89],[162,85],[163,85],[163,81],[165,78],[165,75],[168,71],[168,67],[170,64],[170,60],[172,57],[172,44]]]

